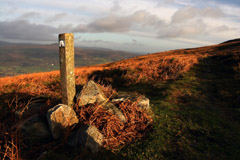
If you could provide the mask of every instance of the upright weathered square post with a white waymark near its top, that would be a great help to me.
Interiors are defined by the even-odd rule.
[[[62,103],[72,106],[76,94],[73,33],[59,34],[59,61]]]

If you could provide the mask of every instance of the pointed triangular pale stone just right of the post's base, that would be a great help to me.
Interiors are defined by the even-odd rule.
[[[106,101],[107,98],[103,91],[94,81],[89,81],[82,89],[79,95],[77,95],[77,102],[80,106],[92,103],[102,103]]]

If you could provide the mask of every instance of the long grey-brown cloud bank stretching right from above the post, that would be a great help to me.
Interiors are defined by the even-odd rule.
[[[118,2],[115,2],[118,4]],[[111,14],[96,19],[89,24],[79,24],[74,32],[150,32],[159,38],[189,37],[206,34],[213,30],[205,18],[220,18],[225,14],[221,9],[196,8],[186,6],[177,10],[169,23],[145,10],[138,10],[130,15],[119,16]],[[210,29],[211,28],[211,29]]]

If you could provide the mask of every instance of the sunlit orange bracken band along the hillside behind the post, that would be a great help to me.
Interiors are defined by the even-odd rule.
[[[176,79],[188,71],[199,60],[209,56],[239,57],[240,42],[230,42],[209,47],[172,50],[138,56],[118,62],[76,68],[76,85],[83,85],[95,77],[108,83],[118,81],[130,85],[136,83],[161,82]],[[31,96],[59,98],[59,71],[24,74],[16,77],[0,78],[0,92],[21,93]]]

